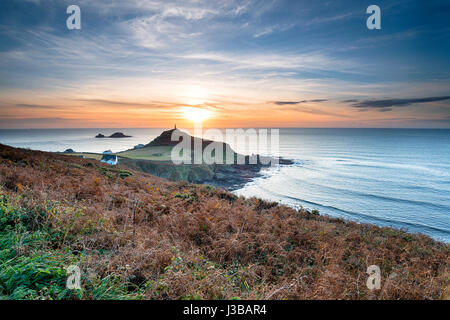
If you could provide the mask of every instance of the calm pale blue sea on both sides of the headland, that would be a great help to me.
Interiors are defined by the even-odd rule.
[[[163,130],[0,129],[0,143],[52,152],[119,152]],[[94,138],[118,131],[132,137]],[[294,164],[265,169],[233,192],[450,242],[450,130],[280,129],[279,155]]]

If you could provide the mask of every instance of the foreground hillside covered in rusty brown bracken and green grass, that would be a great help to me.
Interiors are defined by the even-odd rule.
[[[442,299],[449,246],[0,146],[0,299]],[[65,288],[77,264],[82,290]],[[381,268],[371,292],[366,269]]]

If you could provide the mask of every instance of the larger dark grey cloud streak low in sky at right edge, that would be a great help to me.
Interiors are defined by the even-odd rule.
[[[392,108],[394,107],[407,107],[416,103],[429,103],[445,100],[450,100],[450,96],[363,101],[346,100],[344,102],[351,103],[353,107],[360,110],[375,109],[380,112],[388,112],[392,111]]]

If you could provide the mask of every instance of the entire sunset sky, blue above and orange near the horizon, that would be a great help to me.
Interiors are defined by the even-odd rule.
[[[2,0],[0,128],[450,128],[449,21],[433,0]]]

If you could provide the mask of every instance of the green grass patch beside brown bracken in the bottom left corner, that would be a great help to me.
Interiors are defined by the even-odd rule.
[[[67,232],[45,223],[48,212],[21,208],[0,196],[0,300],[141,298],[139,288],[129,292],[133,285],[113,274],[82,275],[81,290],[67,289],[66,268],[87,255],[62,245]]]

